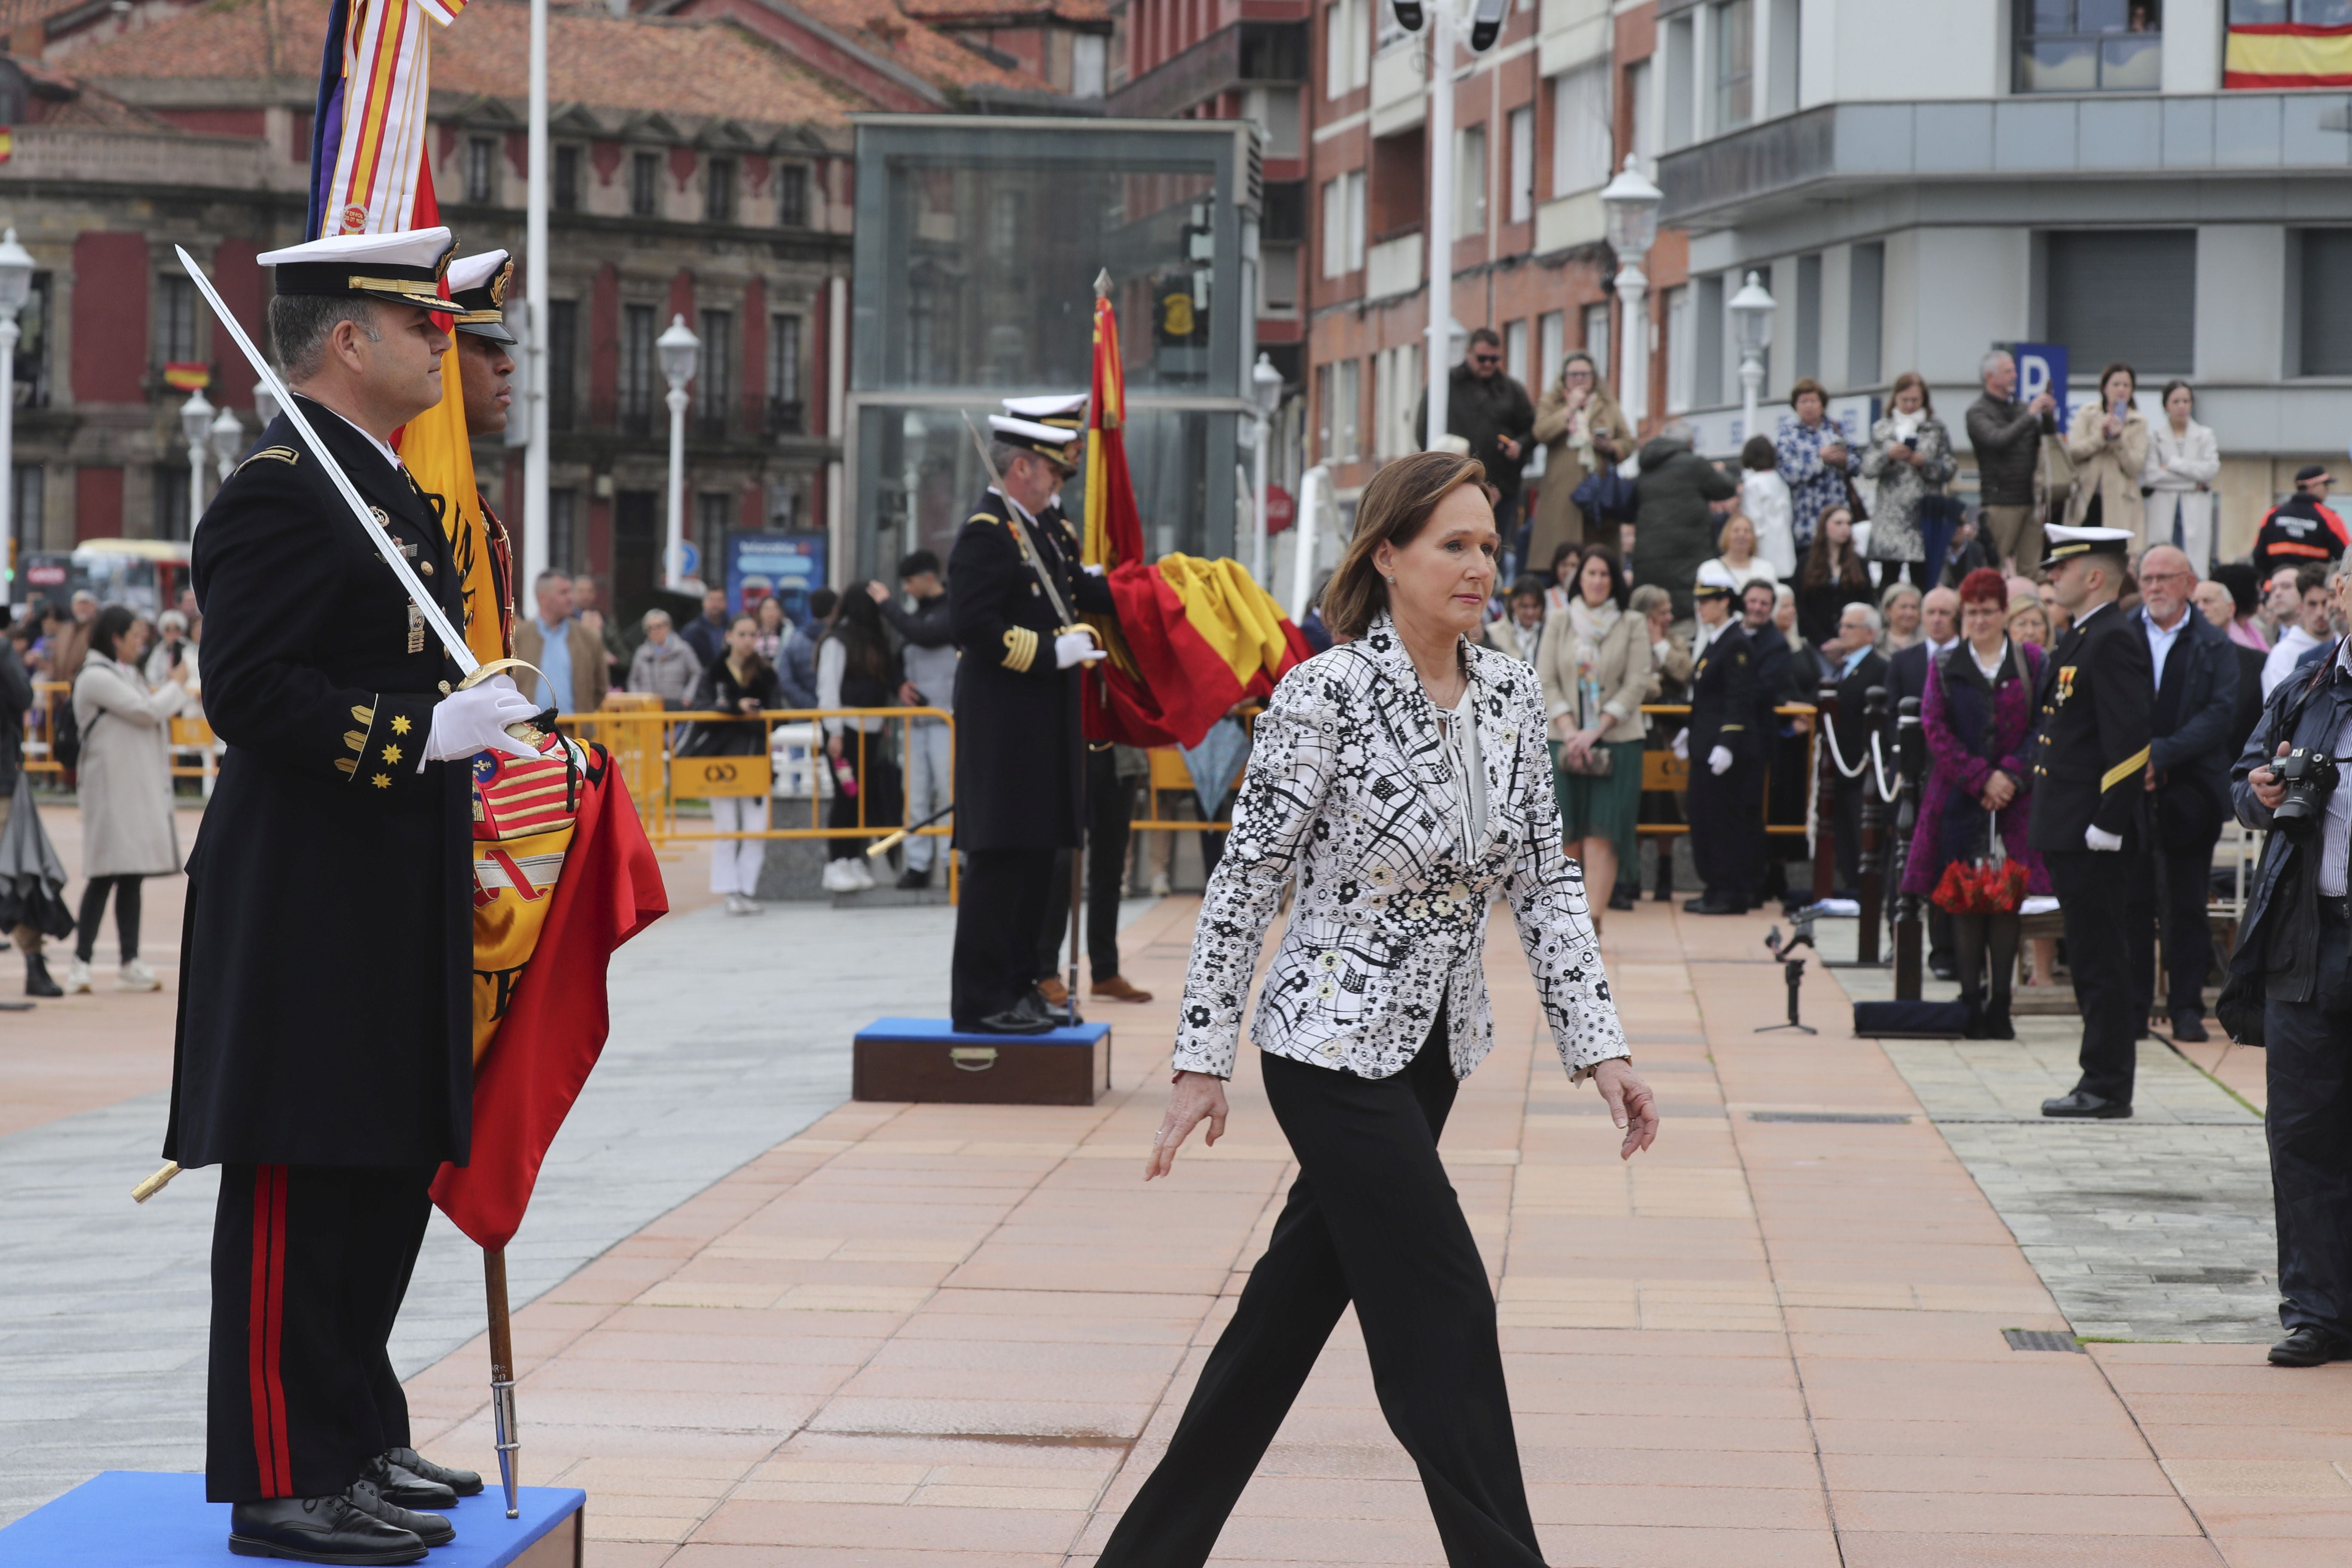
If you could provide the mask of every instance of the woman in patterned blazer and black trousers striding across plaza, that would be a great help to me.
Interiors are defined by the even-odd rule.
[[[1291,670],[1258,719],[1145,1180],[1200,1121],[1211,1143],[1225,1131],[1242,1004],[1294,872],[1249,1034],[1301,1175],[1101,1568],[1207,1561],[1350,1302],[1446,1561],[1543,1563],[1486,1265],[1437,1157],[1458,1079],[1494,1044],[1489,896],[1510,898],[1559,1058],[1571,1081],[1597,1081],[1623,1157],[1649,1147],[1658,1117],[1630,1070],[1583,877],[1559,856],[1536,675],[1475,642],[1503,543],[1482,480],[1446,451],[1374,475],[1324,592],[1345,642]]]

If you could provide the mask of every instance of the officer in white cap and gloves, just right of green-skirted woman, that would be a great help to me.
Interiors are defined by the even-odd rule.
[[[1682,905],[1691,914],[1745,914],[1764,877],[1764,813],[1748,816],[1748,776],[1755,752],[1755,649],[1731,611],[1731,574],[1717,562],[1691,585],[1698,646],[1691,665],[1691,863],[1705,896]]]

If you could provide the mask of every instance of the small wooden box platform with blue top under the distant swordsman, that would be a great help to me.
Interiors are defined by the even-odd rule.
[[[976,1034],[946,1018],[875,1018],[851,1039],[851,1098],[1094,1105],[1110,1088],[1110,1025]]]

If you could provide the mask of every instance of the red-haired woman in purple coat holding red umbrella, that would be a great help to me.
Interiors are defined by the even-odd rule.
[[[1903,891],[1931,896],[1947,865],[1983,860],[1999,827],[2002,851],[2025,867],[2025,891],[2049,893],[2042,858],[2025,844],[2032,795],[2027,745],[2042,649],[2009,639],[2009,583],[1978,569],[1959,583],[1959,644],[1929,665],[1919,724],[1929,776]],[[1985,1004],[1985,957],[1992,957],[1992,1004]],[[1969,1004],[1969,1039],[2016,1039],[2009,985],[2018,969],[2018,914],[1952,914],[1959,997]]]

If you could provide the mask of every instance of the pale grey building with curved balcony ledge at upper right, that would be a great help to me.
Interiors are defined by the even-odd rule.
[[[1922,371],[1959,433],[1994,343],[2197,388],[2220,550],[2352,435],[2352,16],[2331,0],[1661,0],[1665,407],[1738,442],[1724,301],[1776,301],[1764,397],[1867,411]],[[2284,47],[2284,45],[2296,47]],[[1962,435],[1964,440],[1964,435]],[[1962,475],[1962,487],[1973,475]]]

